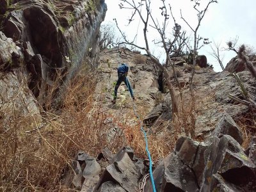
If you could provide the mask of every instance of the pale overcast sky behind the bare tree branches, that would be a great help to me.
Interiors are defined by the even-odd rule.
[[[134,0],[135,2],[140,2],[139,0]],[[145,42],[143,38],[143,24],[139,17],[134,17],[134,20],[127,26],[128,19],[131,17],[131,10],[120,9],[118,4],[120,0],[105,0],[108,5],[108,11],[106,13],[105,20],[103,24],[113,23],[115,18],[118,22],[118,26],[122,31],[125,31],[125,35],[129,37],[130,40],[134,39],[137,35],[136,43],[145,47]],[[200,9],[205,8],[205,3],[209,0],[201,0]],[[188,36],[191,41],[193,40],[193,32],[189,29],[188,25],[180,19],[180,10],[182,16],[188,21],[188,23],[195,28],[197,24],[196,12],[193,9],[193,4],[191,0],[166,0],[166,4],[172,6],[173,15],[177,22],[187,31]],[[159,7],[161,6],[161,0],[152,0],[152,13],[154,17],[159,21],[161,20],[161,12]],[[218,3],[213,3],[209,6],[209,9],[205,13],[205,17],[201,22],[200,28],[198,29],[198,35],[209,38],[211,42],[216,42],[220,44],[220,47],[227,48],[226,42],[238,37],[237,45],[246,44],[256,47],[256,1],[255,0],[218,0]],[[170,19],[168,24],[171,29],[173,26],[173,21]],[[253,33],[254,32],[254,33]],[[116,31],[118,33],[118,31]],[[150,51],[159,58],[163,60],[164,51],[160,47],[157,47],[152,40],[159,40],[159,35],[155,29],[148,29],[148,42],[150,42]],[[191,42],[191,45],[193,43]],[[207,62],[213,65],[216,72],[221,71],[221,67],[218,61],[211,56],[211,48],[209,45],[205,45],[198,51],[198,54],[205,54],[207,56]],[[227,65],[234,56],[235,52],[232,51],[221,51],[221,56],[223,56],[223,65]]]

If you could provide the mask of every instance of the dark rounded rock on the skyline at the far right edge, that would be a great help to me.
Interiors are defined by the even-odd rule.
[[[250,61],[252,61],[253,65],[256,66],[256,56],[250,55],[248,58]],[[225,70],[227,70],[228,72],[234,73],[234,72],[241,72],[247,69],[246,69],[245,63],[236,56],[228,62],[227,66],[225,67]]]

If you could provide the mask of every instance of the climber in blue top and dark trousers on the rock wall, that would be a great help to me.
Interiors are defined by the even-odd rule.
[[[129,92],[131,93],[132,99],[135,100],[135,97],[134,97],[133,92],[132,92],[131,84],[129,83],[129,80],[127,79],[128,70],[129,70],[129,67],[126,63],[122,63],[122,65],[120,65],[117,68],[118,79],[116,81],[114,99],[112,100],[113,104],[116,103],[117,90],[118,90],[118,88],[119,88],[119,86],[122,82],[124,82],[125,85],[127,86],[127,88],[129,89]]]

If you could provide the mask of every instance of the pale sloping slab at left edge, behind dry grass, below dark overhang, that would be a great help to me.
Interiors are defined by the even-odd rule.
[[[19,69],[0,72],[0,127],[7,131],[13,124],[28,130],[39,124],[40,111],[35,97],[28,88],[26,75]]]

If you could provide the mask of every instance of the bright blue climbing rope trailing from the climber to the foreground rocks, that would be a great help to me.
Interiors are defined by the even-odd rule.
[[[128,83],[127,83],[127,77],[125,78],[125,81],[126,81],[126,84],[128,84]],[[138,120],[140,120],[140,130],[141,130],[141,131],[143,132],[143,134],[144,134],[145,143],[146,143],[146,151],[147,151],[148,159],[149,159],[149,175],[150,175],[150,180],[151,180],[153,192],[156,192],[156,186],[155,186],[154,177],[153,177],[153,173],[152,173],[152,159],[151,159],[151,156],[150,156],[150,152],[149,152],[149,150],[148,150],[147,134],[146,134],[146,132],[145,132],[145,130],[143,129],[143,126],[142,126],[142,124],[141,124],[140,116],[138,115],[138,113],[136,113],[136,109],[135,109],[135,106],[134,106],[134,102],[133,102],[132,108],[133,108],[134,114],[136,115],[136,117],[138,118]]]

